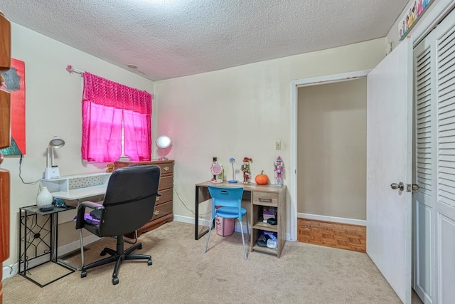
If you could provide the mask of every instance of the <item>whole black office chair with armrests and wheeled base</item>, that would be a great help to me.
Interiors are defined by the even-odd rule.
[[[102,204],[84,201],[77,206],[76,229],[80,229],[81,278],[87,276],[87,269],[115,262],[112,273],[112,284],[115,285],[119,283],[117,275],[122,261],[144,259],[151,265],[151,256],[132,253],[142,248],[141,243],[124,250],[123,235],[139,229],[151,220],[156,196],[159,195],[159,177],[160,168],[154,164],[117,169],[109,178]],[[85,213],[86,207],[92,209],[90,214]],[[109,253],[109,257],[84,265],[82,228],[99,237],[117,237],[117,250],[104,248],[100,255]]]

